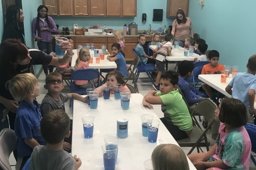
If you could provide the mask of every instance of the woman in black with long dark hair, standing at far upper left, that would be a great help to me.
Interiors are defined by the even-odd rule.
[[[23,30],[24,14],[21,8],[11,5],[6,10],[6,24],[3,31],[3,40],[14,38],[26,45]]]

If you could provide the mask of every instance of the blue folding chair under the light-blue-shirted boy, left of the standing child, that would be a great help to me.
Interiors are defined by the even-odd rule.
[[[133,48],[133,51],[134,51],[135,56],[140,58],[140,62],[139,62],[139,64],[138,64],[137,68],[136,68],[137,71],[136,71],[136,73],[135,73],[135,74],[136,74],[136,77],[137,77],[136,82],[137,82],[138,79],[139,79],[140,73],[146,73],[146,74],[148,75],[150,81],[151,81],[152,83],[154,83],[154,82],[155,82],[155,79],[152,77],[151,72],[156,71],[157,68],[155,67],[154,64],[145,64],[145,63],[142,61],[139,52],[138,52],[135,48]]]

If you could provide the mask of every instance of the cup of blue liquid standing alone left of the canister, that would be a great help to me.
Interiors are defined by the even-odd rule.
[[[95,116],[86,115],[82,117],[84,127],[84,138],[89,139],[93,137]]]

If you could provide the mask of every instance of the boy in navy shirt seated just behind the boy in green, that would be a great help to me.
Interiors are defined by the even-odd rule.
[[[183,95],[185,96],[186,101],[190,105],[191,109],[194,109],[196,105],[202,101],[201,96],[197,96],[194,92],[191,91],[189,87],[189,83],[186,81],[187,78],[192,76],[192,72],[194,69],[194,64],[190,61],[183,60],[180,62],[178,65],[178,70],[180,73],[179,76],[179,82],[178,86],[180,87],[180,90],[182,91]],[[204,117],[204,122],[210,122],[211,120],[207,120]],[[207,126],[207,123],[206,125]],[[218,134],[218,129],[219,129],[220,123],[215,121],[211,128],[212,128],[212,139],[216,140],[217,134]]]

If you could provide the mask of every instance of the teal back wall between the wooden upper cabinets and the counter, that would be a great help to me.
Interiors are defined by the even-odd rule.
[[[123,26],[135,22],[138,24],[139,30],[148,30],[148,25],[151,24],[152,30],[157,30],[162,24],[162,27],[166,24],[168,28],[172,25],[173,18],[166,18],[166,4],[167,0],[137,0],[137,17],[53,17],[55,23],[62,29],[64,26],[68,26],[73,30],[73,24],[78,24],[79,29],[85,25],[89,28],[91,25],[106,23],[106,28],[123,29]],[[163,21],[152,21],[153,9],[163,9]],[[142,23],[142,14],[147,14],[146,23]]]

